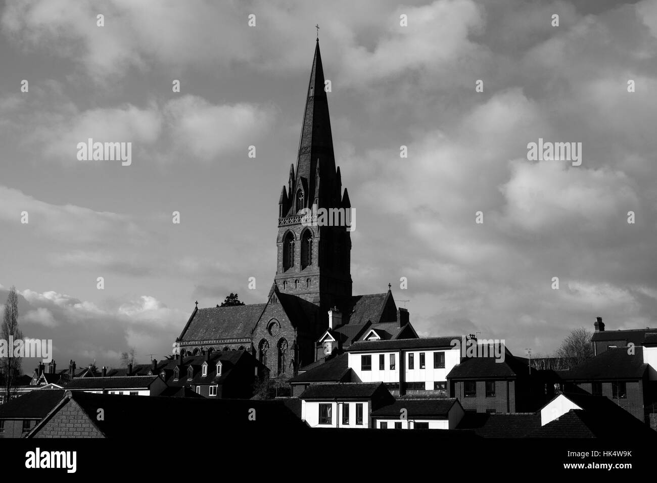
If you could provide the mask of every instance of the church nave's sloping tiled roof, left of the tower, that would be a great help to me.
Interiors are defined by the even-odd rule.
[[[181,341],[250,337],[266,304],[198,309],[183,333]]]

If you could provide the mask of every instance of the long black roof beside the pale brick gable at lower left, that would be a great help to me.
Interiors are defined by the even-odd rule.
[[[185,428],[202,428],[208,434],[287,434],[304,430],[302,422],[286,405],[277,400],[229,400],[208,398],[166,398],[149,396],[129,398],[110,394],[92,394],[67,391],[64,402],[73,400],[87,414],[91,423],[108,438],[127,438],[135,434],[151,440],[170,440],[175,428],[166,421],[175,419],[176,425]],[[39,429],[64,407],[60,405],[49,413],[28,434],[34,437]],[[102,407],[104,421],[97,421],[97,409]],[[250,421],[250,409],[255,409],[256,419]],[[173,433],[172,433],[173,431]],[[265,433],[263,431],[270,431]],[[64,436],[66,437],[66,436]]]

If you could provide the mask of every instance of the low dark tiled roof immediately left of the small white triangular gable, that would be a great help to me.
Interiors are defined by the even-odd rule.
[[[541,427],[541,414],[466,413],[459,429],[474,429],[484,438],[524,438]]]

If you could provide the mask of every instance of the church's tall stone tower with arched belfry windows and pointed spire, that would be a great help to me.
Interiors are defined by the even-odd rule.
[[[330,226],[326,219],[324,223],[308,223],[302,210],[313,210],[313,206],[317,210],[342,208],[343,213],[351,210],[347,190],[342,193],[340,168],[335,165],[319,39],[308,83],[296,169],[294,164],[290,166],[287,185],[279,198],[275,282],[281,292],[304,298],[328,311],[351,298],[351,237],[346,223]]]

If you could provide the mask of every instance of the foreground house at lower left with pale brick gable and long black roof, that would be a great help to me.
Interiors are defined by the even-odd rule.
[[[175,426],[168,421],[175,416]],[[178,426],[179,425],[179,426]],[[218,438],[241,440],[283,434],[294,441],[307,426],[279,401],[208,398],[118,398],[110,394],[66,391],[27,434],[27,438],[114,438],[135,434],[168,441],[177,428],[194,428]],[[221,451],[217,454],[223,454]]]

